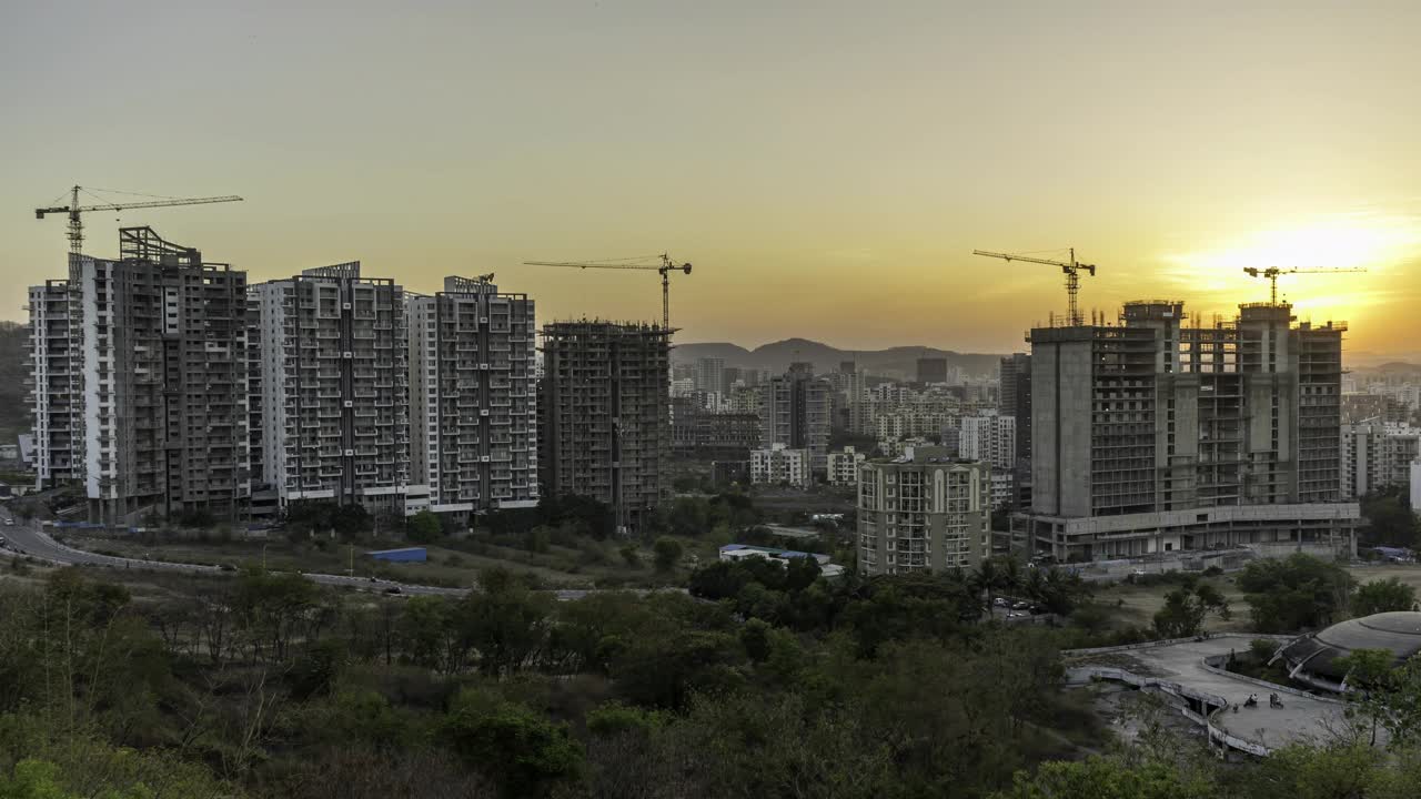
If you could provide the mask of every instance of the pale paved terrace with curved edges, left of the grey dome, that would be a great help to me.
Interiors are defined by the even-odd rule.
[[[1204,658],[1226,655],[1229,650],[1246,651],[1249,636],[1218,636],[1205,641],[1182,641],[1131,651],[1081,655],[1069,667],[1110,667],[1177,682],[1185,692],[1216,697],[1239,705],[1238,712],[1226,709],[1214,717],[1215,726],[1232,736],[1276,749],[1290,742],[1320,741],[1346,726],[1346,705],[1336,699],[1289,694],[1275,688],[1283,699],[1282,708],[1268,705],[1270,688],[1236,674],[1216,672],[1205,667]],[[1243,708],[1249,694],[1258,694],[1259,707]]]

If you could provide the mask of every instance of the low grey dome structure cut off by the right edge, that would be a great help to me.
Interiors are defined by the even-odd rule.
[[[1387,650],[1401,665],[1421,651],[1421,613],[1403,610],[1339,621],[1293,640],[1279,657],[1295,680],[1340,691],[1347,672],[1337,661],[1356,650]]]

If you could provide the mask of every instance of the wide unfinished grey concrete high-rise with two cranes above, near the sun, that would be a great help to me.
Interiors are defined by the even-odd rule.
[[[1182,326],[1178,301],[1032,341],[1036,547],[1120,557],[1221,546],[1350,550],[1340,499],[1344,327],[1287,304]],[[1269,546],[1273,545],[1273,546]]]

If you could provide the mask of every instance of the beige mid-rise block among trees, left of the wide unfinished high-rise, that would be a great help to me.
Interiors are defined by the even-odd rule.
[[[858,469],[858,572],[972,569],[992,554],[992,471],[914,446]]]

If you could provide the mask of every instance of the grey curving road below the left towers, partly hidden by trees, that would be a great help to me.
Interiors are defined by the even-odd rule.
[[[13,525],[4,525],[3,520],[11,520]],[[95,552],[85,552],[82,549],[74,549],[64,546],[63,543],[50,537],[38,522],[24,523],[14,519],[9,510],[0,509],[0,536],[6,539],[6,545],[0,546],[0,554],[28,554],[38,560],[45,560],[50,563],[57,563],[61,566],[101,566],[107,569],[149,569],[155,572],[185,572],[189,574],[236,574],[236,572],[223,572],[217,566],[200,566],[196,563],[172,563],[168,560],[139,560],[135,557],[114,557],[111,554],[98,554]],[[303,572],[303,574],[313,583],[320,583],[323,586],[335,587],[350,587],[361,591],[375,591],[375,593],[398,593],[401,596],[453,596],[460,597],[469,593],[470,589],[446,589],[443,586],[421,586],[418,583],[399,583],[395,580],[379,580],[371,577],[351,577],[348,574],[317,574],[311,572]],[[664,589],[685,593],[685,589]],[[576,601],[588,594],[598,593],[600,589],[558,589],[551,590],[558,601]],[[645,589],[634,590],[637,594],[649,593]]]

